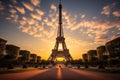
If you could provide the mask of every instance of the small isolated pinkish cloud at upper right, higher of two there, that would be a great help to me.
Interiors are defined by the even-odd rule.
[[[111,13],[111,10],[115,5],[116,5],[115,3],[112,3],[110,5],[104,6],[101,14],[104,14],[104,15],[108,16]]]

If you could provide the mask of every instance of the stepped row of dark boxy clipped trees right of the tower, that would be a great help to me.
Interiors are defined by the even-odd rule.
[[[84,62],[108,61],[118,60],[120,63],[120,37],[113,39],[105,44],[105,46],[99,46],[96,50],[89,50],[87,54],[82,55]]]

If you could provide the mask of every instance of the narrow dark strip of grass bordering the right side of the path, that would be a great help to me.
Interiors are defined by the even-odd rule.
[[[120,69],[90,69],[90,68],[81,68],[80,70],[94,71],[101,73],[120,73]]]

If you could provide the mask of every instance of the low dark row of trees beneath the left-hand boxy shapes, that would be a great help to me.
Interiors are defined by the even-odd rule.
[[[8,69],[13,69],[15,67],[22,67],[22,68],[27,68],[27,67],[41,67],[45,68],[46,65],[50,64],[49,61],[47,60],[40,60],[39,63],[35,62],[21,62],[19,59],[14,60],[9,56],[5,56],[4,58],[0,59],[0,68],[8,68]]]

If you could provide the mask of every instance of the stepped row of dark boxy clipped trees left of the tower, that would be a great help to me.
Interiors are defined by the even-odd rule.
[[[37,56],[36,54],[31,54],[28,50],[20,50],[20,47],[7,44],[7,41],[0,38],[0,65],[2,64],[1,61],[8,61],[14,63],[40,63],[41,57]],[[6,63],[7,64],[7,63]]]

